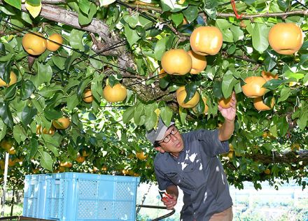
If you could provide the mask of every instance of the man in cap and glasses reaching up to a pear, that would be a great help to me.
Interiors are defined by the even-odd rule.
[[[176,205],[178,187],[183,190],[183,221],[232,220],[232,199],[217,155],[229,151],[236,104],[233,92],[230,108],[218,106],[225,118],[220,129],[180,134],[174,122],[167,127],[159,120],[157,129],[146,134],[159,151],[154,160],[155,174],[159,189],[167,192],[168,197],[162,198],[167,209]]]

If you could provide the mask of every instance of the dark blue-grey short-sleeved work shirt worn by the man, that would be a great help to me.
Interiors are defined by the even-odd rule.
[[[160,190],[176,185],[183,190],[183,221],[205,221],[232,206],[223,165],[217,155],[228,152],[228,141],[219,141],[218,130],[200,129],[182,134],[184,148],[178,158],[168,152],[154,160]]]

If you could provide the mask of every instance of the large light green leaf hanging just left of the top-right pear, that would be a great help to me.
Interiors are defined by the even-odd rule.
[[[268,32],[269,27],[266,24],[255,23],[253,33],[251,34],[253,40],[253,48],[262,53],[268,48]]]

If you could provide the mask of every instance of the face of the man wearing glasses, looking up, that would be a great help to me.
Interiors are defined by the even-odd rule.
[[[165,136],[161,141],[158,141],[159,147],[156,150],[160,152],[169,152],[174,156],[179,156],[184,148],[183,138],[174,125],[170,126],[165,132]]]

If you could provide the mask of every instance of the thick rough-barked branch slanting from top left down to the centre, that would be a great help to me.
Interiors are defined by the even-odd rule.
[[[53,0],[52,2],[59,2],[59,0]],[[0,4],[3,4],[3,0],[0,0]],[[24,4],[22,4],[22,10],[28,12]],[[89,31],[90,33],[99,34],[99,36],[104,39],[104,43],[101,43],[99,45],[96,52],[99,52],[103,48],[112,47],[114,43],[123,41],[123,38],[118,37],[116,33],[111,33],[109,31],[109,27],[102,20],[94,18],[90,24],[82,27],[78,23],[78,13],[68,11],[65,8],[61,8],[59,6],[43,4],[40,16],[45,17],[48,20],[67,24],[76,29],[82,29],[85,31]],[[90,36],[92,37],[92,40],[94,42],[94,36],[91,34]],[[130,88],[130,90],[133,90],[144,101],[161,99],[162,97],[169,94],[168,91],[160,90],[158,83],[155,83],[154,89],[151,85],[146,85],[146,83],[144,83],[146,81],[144,78],[141,79],[137,76],[133,78],[133,75],[131,73],[127,73],[124,71],[125,69],[136,70],[134,57],[130,52],[127,51],[126,46],[121,46],[119,48],[114,48],[113,50],[108,50],[106,52],[103,52],[102,55],[111,55],[118,58],[118,65],[121,67],[121,73],[124,76],[123,85]]]

